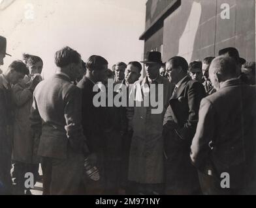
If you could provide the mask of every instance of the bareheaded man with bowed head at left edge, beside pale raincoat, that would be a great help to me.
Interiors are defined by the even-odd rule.
[[[16,85],[29,70],[21,60],[14,61],[0,75],[0,194],[10,194],[13,105],[11,85]]]

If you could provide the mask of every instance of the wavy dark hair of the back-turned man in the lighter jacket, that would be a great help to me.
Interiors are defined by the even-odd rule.
[[[79,64],[80,61],[81,55],[68,46],[55,53],[55,64],[59,68],[69,64]]]

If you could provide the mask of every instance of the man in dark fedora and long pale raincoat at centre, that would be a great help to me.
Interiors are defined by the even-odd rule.
[[[133,136],[129,157],[128,179],[133,185],[131,194],[159,194],[163,189],[163,117],[170,99],[171,88],[168,79],[159,75],[161,68],[161,53],[152,51],[147,53],[142,63],[145,64],[146,77],[136,81],[129,101],[134,98],[140,101],[145,98],[145,88],[152,90],[157,85],[163,85],[163,110],[159,114],[152,113],[152,105],[136,105],[133,114]],[[152,85],[155,84],[155,85]],[[149,94],[151,91],[148,91]],[[152,94],[150,94],[152,96]],[[157,98],[157,96],[156,96]],[[143,101],[142,101],[143,102]],[[142,103],[140,103],[142,104]],[[141,107],[140,107],[141,106]]]

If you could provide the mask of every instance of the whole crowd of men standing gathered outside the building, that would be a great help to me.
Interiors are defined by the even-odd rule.
[[[0,36],[0,65],[6,49]],[[0,75],[0,194],[31,194],[28,172],[43,194],[256,194],[255,62],[228,47],[202,62],[152,51],[141,63],[142,79],[140,62],[110,70],[63,47],[43,80],[40,57],[14,60]],[[153,90],[163,110],[95,106],[110,79],[112,96],[142,104]]]

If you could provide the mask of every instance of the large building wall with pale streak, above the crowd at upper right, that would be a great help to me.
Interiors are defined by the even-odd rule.
[[[230,6],[230,19],[221,19],[223,3]],[[223,47],[236,47],[240,57],[255,61],[255,0],[182,0],[164,21],[164,62],[174,55],[188,62],[216,56]]]

